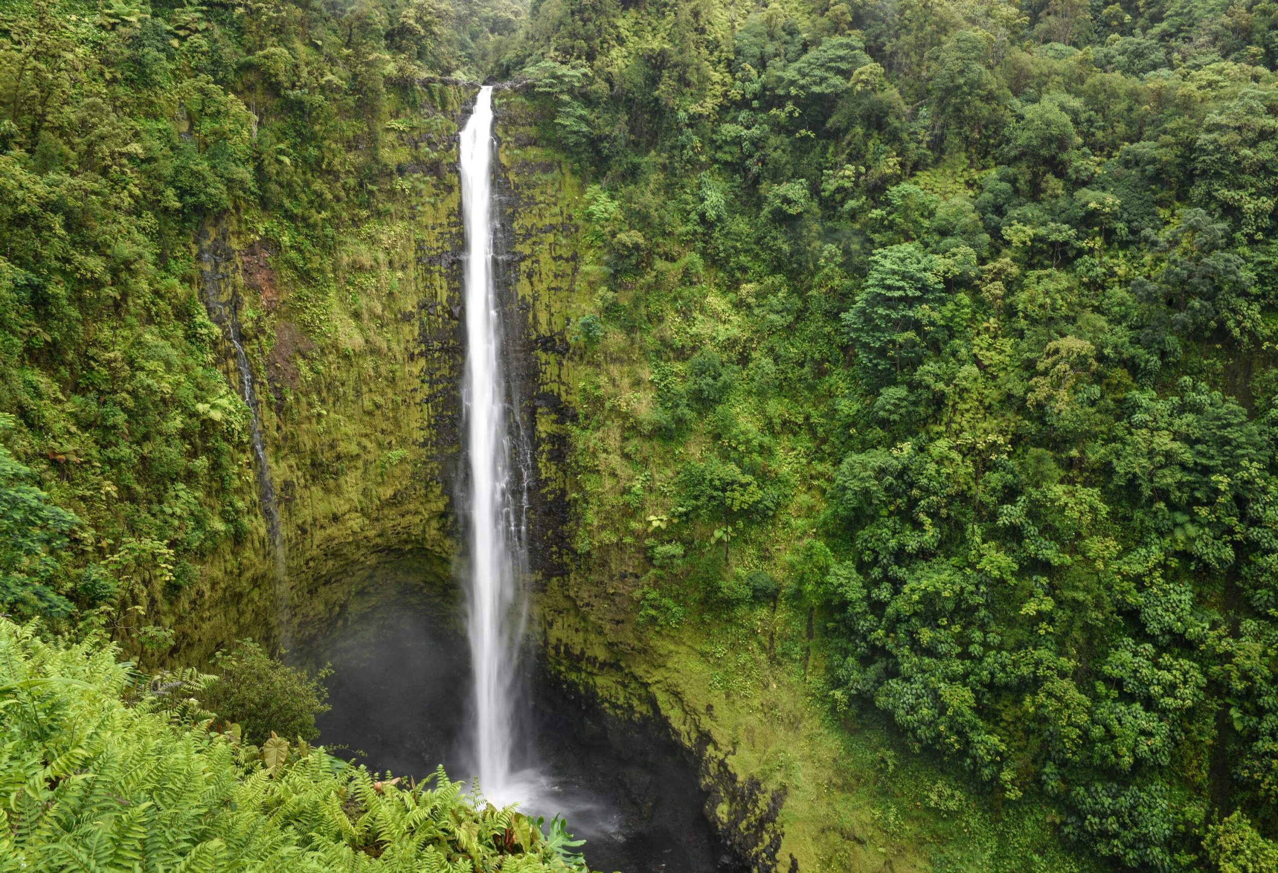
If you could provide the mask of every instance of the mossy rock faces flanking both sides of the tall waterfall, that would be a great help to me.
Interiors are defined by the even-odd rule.
[[[160,608],[179,630],[175,660],[202,665],[236,637],[281,639],[275,592],[288,596],[291,637],[326,628],[372,564],[401,555],[449,573],[460,472],[463,348],[460,192],[455,134],[473,93],[440,87],[432,141],[401,143],[404,178],[387,207],[335,228],[325,276],[300,276],[247,221],[211,229],[221,304],[235,314],[257,396],[270,491],[252,452],[240,491],[258,510],[249,542],[227,545],[198,585]],[[518,415],[535,433],[533,498],[535,638],[558,681],[624,718],[653,718],[695,754],[717,822],[741,869],[778,863],[785,794],[739,776],[703,704],[659,686],[659,668],[627,631],[602,573],[573,548],[571,427],[585,372],[570,341],[593,291],[583,277],[579,180],[537,143],[523,98],[496,100],[500,198],[498,293]],[[420,161],[428,151],[429,161]],[[417,160],[414,160],[417,158]],[[207,290],[207,289],[206,289]],[[204,299],[210,299],[204,295]],[[222,369],[240,378],[230,318]],[[273,493],[282,566],[265,506]],[[282,579],[281,579],[282,574]],[[602,582],[601,582],[602,579]],[[629,642],[624,642],[629,640]],[[709,709],[713,722],[713,708]],[[783,865],[783,864],[782,864]]]

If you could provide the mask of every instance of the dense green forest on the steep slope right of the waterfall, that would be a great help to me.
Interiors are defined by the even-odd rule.
[[[504,63],[598,180],[579,548],[653,625],[787,602],[831,707],[1118,865],[1272,868],[1273,15],[534,3]]]

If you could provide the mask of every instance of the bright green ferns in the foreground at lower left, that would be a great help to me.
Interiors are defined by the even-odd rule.
[[[377,781],[304,743],[208,730],[100,642],[0,619],[0,870],[584,870],[560,822],[477,808],[442,769]],[[428,787],[432,786],[432,787]]]

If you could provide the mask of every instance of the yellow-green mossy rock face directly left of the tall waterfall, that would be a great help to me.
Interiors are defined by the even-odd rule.
[[[242,495],[257,510],[248,542],[225,543],[198,585],[158,608],[179,634],[173,656],[202,663],[235,637],[276,639],[284,576],[299,637],[345,598],[341,580],[387,555],[452,551],[450,482],[460,406],[461,224],[456,129],[466,93],[437,87],[428,134],[399,138],[399,180],[378,208],[331,228],[320,275],[290,267],[252,217],[211,228],[217,294],[236,316],[252,373],[280,524],[277,566],[259,461],[242,458]],[[207,300],[207,294],[204,295]],[[222,369],[240,378],[229,318]]]

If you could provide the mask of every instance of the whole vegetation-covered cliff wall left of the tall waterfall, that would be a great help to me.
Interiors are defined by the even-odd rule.
[[[344,568],[451,548],[469,93],[428,73],[489,41],[447,4],[399,12],[37,0],[0,19],[4,438],[79,519],[38,584],[129,647],[175,630],[148,631],[148,658],[271,638],[290,601],[304,631]]]

